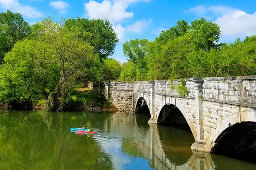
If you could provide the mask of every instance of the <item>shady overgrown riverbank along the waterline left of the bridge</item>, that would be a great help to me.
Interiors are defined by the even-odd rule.
[[[49,103],[59,103],[60,99],[56,101],[47,99],[38,99],[33,102],[19,102],[15,101],[10,104],[0,104],[1,109],[7,110],[42,110],[42,111],[56,111],[58,105],[54,108],[48,107]],[[98,88],[93,90],[88,88],[74,88],[73,91],[64,99],[61,111],[118,111],[111,102],[100,93]]]

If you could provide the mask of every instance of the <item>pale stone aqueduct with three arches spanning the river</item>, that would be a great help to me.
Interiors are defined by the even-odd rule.
[[[229,127],[248,122],[248,125],[244,125],[248,129],[243,132],[240,130],[239,134],[247,133],[251,127],[255,127],[256,76],[192,78],[184,81],[188,91],[186,96],[181,96],[177,91],[180,80],[106,81],[102,91],[120,111],[137,112],[146,104],[151,115],[148,123],[152,124],[160,123],[159,119],[164,117],[166,110],[175,111],[178,108],[195,138],[191,146],[193,151],[211,152],[221,141],[219,136]],[[177,115],[174,121],[179,122],[179,117]],[[230,134],[233,139],[239,137]],[[247,147],[251,147],[250,144]]]

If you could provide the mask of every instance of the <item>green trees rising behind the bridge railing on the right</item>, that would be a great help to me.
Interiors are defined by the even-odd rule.
[[[119,80],[177,79],[256,74],[256,36],[243,42],[218,44],[221,31],[216,23],[185,20],[162,31],[154,41],[130,40],[123,44],[128,62]],[[241,63],[241,64],[240,64]],[[226,66],[232,65],[232,66]],[[241,70],[244,68],[244,71]],[[237,71],[230,71],[237,70]]]

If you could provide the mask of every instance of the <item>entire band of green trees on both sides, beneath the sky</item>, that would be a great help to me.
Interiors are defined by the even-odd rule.
[[[256,36],[225,44],[218,43],[220,34],[220,27],[204,18],[190,24],[180,20],[154,41],[125,42],[128,61],[120,65],[108,58],[118,39],[107,20],[46,18],[29,26],[21,14],[2,12],[0,103],[22,109],[45,105],[51,111],[104,107],[109,103],[99,91],[74,89],[118,77],[140,81],[255,75],[250,68],[256,68]]]

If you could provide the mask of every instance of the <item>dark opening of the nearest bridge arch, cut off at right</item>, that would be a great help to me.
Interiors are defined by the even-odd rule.
[[[230,124],[215,140],[211,152],[227,156],[248,156],[255,161],[256,122]]]

